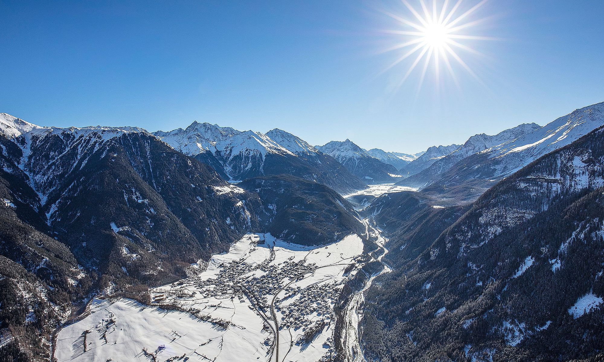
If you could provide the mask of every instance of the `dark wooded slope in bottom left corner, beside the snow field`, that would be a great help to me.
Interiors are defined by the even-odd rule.
[[[51,335],[96,276],[64,244],[19,220],[20,207],[0,205],[0,356],[48,361]]]

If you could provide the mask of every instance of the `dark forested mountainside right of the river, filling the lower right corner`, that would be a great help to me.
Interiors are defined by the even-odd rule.
[[[402,228],[388,226],[376,209],[391,230],[393,272],[367,294],[367,357],[594,357],[604,341],[603,186],[598,129],[497,183],[459,218],[463,207],[422,207],[425,200],[405,193],[397,197],[407,199],[413,215]],[[385,210],[387,198],[380,199]],[[426,211],[434,221],[417,217]],[[451,226],[435,236],[432,225]]]

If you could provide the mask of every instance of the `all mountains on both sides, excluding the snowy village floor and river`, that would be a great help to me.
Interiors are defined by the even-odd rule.
[[[374,250],[371,219],[391,270],[359,255],[367,270],[337,302],[377,278],[359,309],[365,357],[590,358],[604,335],[603,127],[599,103],[410,155],[280,129],[58,128],[0,113],[0,352],[50,360],[72,306],[149,300],[251,231],[311,258],[353,233]],[[420,190],[385,186],[362,211],[338,194],[400,179]]]

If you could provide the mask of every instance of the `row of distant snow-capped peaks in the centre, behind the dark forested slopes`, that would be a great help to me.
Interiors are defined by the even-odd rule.
[[[153,135],[211,165],[228,180],[292,174],[339,192],[361,189],[367,183],[396,182],[398,170],[423,154],[386,152],[379,148],[366,151],[350,140],[313,147],[280,129],[263,134],[198,122],[186,129],[158,131]]]

